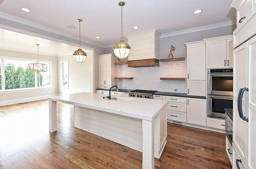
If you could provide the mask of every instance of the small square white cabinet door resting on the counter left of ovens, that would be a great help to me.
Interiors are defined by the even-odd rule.
[[[191,80],[187,81],[188,95],[191,96],[205,96],[206,86],[205,81]]]

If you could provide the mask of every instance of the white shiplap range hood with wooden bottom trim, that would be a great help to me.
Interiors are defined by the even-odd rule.
[[[131,47],[128,67],[159,66],[159,37],[157,29],[126,36]]]

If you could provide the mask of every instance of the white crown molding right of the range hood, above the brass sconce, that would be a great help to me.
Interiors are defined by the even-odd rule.
[[[176,32],[162,34],[160,36],[160,38],[166,38],[166,37],[170,37],[170,36],[182,35],[182,34],[186,34],[186,33],[198,32],[198,31],[204,31],[204,30],[220,28],[220,27],[224,27],[224,26],[231,26],[231,25],[235,25],[235,24],[236,24],[235,20],[228,21],[228,22],[222,22],[222,23],[216,23],[216,24],[212,24],[212,25],[201,26],[201,27],[197,27],[197,28],[185,29],[182,31],[176,31]]]

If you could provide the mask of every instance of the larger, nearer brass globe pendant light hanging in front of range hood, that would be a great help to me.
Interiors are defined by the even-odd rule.
[[[118,5],[121,6],[121,38],[120,42],[118,42],[113,49],[117,58],[124,59],[129,55],[131,47],[123,40],[123,6],[125,2],[120,1]]]

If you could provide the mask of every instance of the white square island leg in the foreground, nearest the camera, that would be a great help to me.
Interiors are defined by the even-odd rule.
[[[154,120],[142,120],[142,169],[155,168]]]

